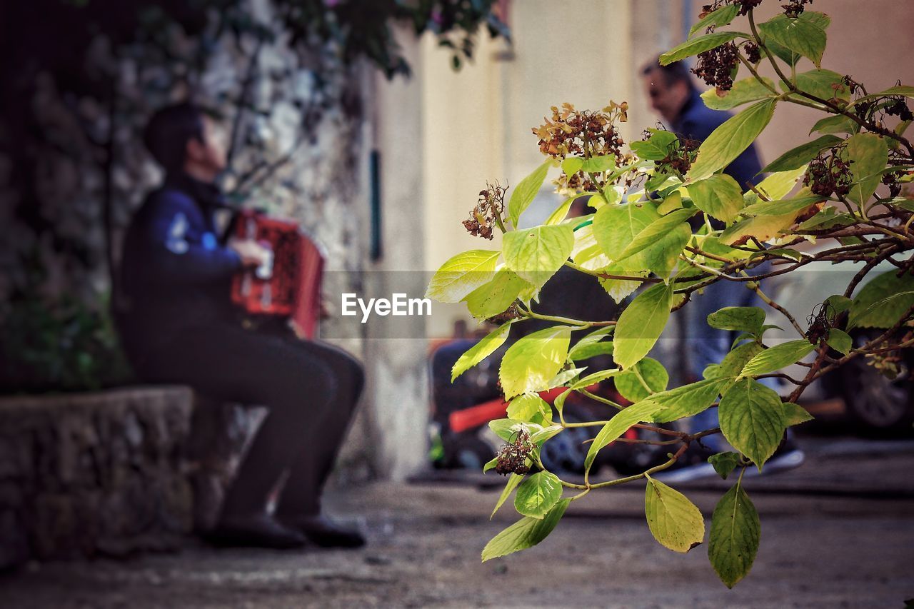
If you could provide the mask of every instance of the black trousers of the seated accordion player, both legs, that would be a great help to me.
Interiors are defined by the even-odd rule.
[[[269,409],[228,489],[223,518],[265,510],[286,472],[277,514],[319,513],[321,490],[364,384],[356,359],[291,332],[255,332],[227,323],[185,328],[169,343],[132,358],[144,379],[186,384],[207,397]]]

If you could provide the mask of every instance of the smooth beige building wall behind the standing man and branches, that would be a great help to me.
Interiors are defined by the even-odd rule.
[[[459,251],[500,246],[497,239],[471,237],[461,221],[486,180],[513,186],[542,162],[530,128],[542,122],[550,106],[571,102],[598,109],[610,100],[628,101],[630,121],[622,129],[623,137],[637,138],[644,127],[653,126],[659,117],[648,107],[639,69],[685,39],[702,4],[514,0],[508,16],[513,47],[481,39],[473,63],[459,72],[448,68],[446,51],[433,39],[424,39],[419,77],[427,269],[437,269]],[[760,18],[773,15],[781,4],[766,0]],[[833,17],[824,67],[863,80],[872,85],[871,91],[898,79],[914,82],[914,63],[909,61],[914,51],[914,3],[816,0],[812,9]],[[806,61],[803,65],[813,68]],[[781,103],[760,137],[763,159],[770,161],[802,143],[817,118],[812,110]],[[440,308],[430,324],[432,337],[448,336],[452,319],[469,318],[462,306],[435,306]]]

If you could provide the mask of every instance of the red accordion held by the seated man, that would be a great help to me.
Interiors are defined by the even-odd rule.
[[[235,276],[231,299],[251,315],[288,317],[300,337],[314,338],[321,312],[324,254],[299,225],[250,210],[235,218],[234,235],[270,248],[270,260]]]

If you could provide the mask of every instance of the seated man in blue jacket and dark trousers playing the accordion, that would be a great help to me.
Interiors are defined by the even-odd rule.
[[[362,367],[344,351],[291,331],[239,325],[229,303],[231,278],[260,265],[267,251],[217,236],[215,181],[226,166],[217,123],[181,103],[156,112],[144,140],[166,176],[124,240],[117,316],[125,350],[145,380],[269,408],[209,538],[265,548],[306,540],[361,546],[358,531],[321,515],[320,496],[362,390]],[[283,477],[271,514],[269,497]]]

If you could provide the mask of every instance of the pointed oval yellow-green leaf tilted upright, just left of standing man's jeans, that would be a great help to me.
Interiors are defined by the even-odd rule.
[[[612,340],[613,358],[619,366],[631,368],[647,355],[664,331],[672,306],[672,283],[658,283],[635,296],[622,311]]]

